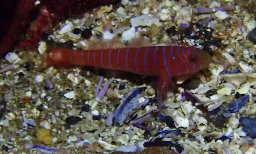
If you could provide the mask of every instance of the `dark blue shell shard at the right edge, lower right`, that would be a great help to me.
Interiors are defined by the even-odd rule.
[[[240,117],[239,122],[248,136],[256,138],[256,118]]]

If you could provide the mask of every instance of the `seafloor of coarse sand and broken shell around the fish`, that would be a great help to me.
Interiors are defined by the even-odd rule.
[[[256,136],[255,130],[248,130],[251,131],[248,136],[239,122],[240,117],[254,118],[254,124],[250,124],[255,126],[256,45],[247,38],[248,32],[256,26],[255,14],[237,6],[233,0],[198,1],[200,3],[194,8],[204,7],[205,1],[205,6],[235,6],[236,9],[194,14],[192,23],[203,24],[211,19],[209,23],[205,22],[207,28],[195,25],[194,29],[183,31],[181,26],[190,23],[192,16],[192,6],[186,0],[122,0],[118,6],[101,7],[83,14],[83,18],[60,23],[49,34],[48,40],[40,42],[39,51],[16,49],[1,59],[0,69],[7,70],[0,73],[0,153],[40,153],[40,148],[34,152],[25,148],[34,144],[60,149],[56,153],[62,154],[109,153],[122,145],[143,147],[143,143],[159,131],[181,129],[178,136],[163,136],[162,140],[180,144],[187,154],[255,154],[256,140],[252,138]],[[136,17],[146,21],[134,21],[138,19]],[[68,24],[72,26],[63,29]],[[137,32],[155,45],[167,43],[204,48],[213,52],[213,62],[196,75],[197,79],[189,79],[178,85],[176,94],[167,95],[167,108],[162,110],[162,114],[173,118],[173,127],[153,116],[142,123],[149,132],[129,124],[108,127],[105,118],[98,115],[109,116],[132,89],[139,88],[142,99],[150,99],[144,110],[136,112],[137,118],[157,110],[155,92],[143,83],[144,78],[136,82],[132,76],[114,78],[110,87],[117,94],[117,99],[110,100],[105,95],[96,101],[97,71],[88,72],[83,67],[45,68],[45,43],[46,46],[53,44],[49,40],[63,43],[59,44],[60,47],[87,49],[89,39],[80,34],[74,35],[75,28],[89,28],[92,29],[92,37],[120,39],[124,43],[137,36]],[[209,28],[214,30],[213,35]],[[234,69],[237,69],[235,74],[226,73]],[[109,73],[103,74],[108,77],[104,78],[104,83],[109,80]],[[191,101],[179,102],[184,90],[206,102],[203,104],[208,110],[222,106],[222,111],[209,116]],[[248,102],[231,113],[230,118],[221,116],[230,110],[228,104],[247,95]],[[40,135],[41,138],[38,137]],[[51,150],[45,149],[49,153]],[[166,147],[148,148],[132,154],[153,153],[175,154]]]

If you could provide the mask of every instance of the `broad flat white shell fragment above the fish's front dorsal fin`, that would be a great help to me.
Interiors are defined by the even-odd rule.
[[[150,17],[147,14],[142,14],[141,16],[131,18],[131,24],[133,27],[138,26],[151,26],[152,24],[159,25],[159,19]]]

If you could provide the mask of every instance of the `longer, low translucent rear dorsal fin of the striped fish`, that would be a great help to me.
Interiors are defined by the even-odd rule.
[[[121,49],[126,48],[124,43],[115,39],[96,39],[89,42],[88,50]]]

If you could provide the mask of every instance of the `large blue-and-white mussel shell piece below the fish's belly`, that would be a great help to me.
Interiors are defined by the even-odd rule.
[[[114,125],[121,126],[128,123],[137,115],[137,112],[143,109],[148,103],[149,99],[145,98],[143,102],[139,103],[141,92],[138,89],[132,90],[128,93],[124,101],[114,111],[114,116],[109,116],[107,121],[113,122]],[[109,119],[109,118],[112,118]],[[108,123],[108,125],[110,125]]]

